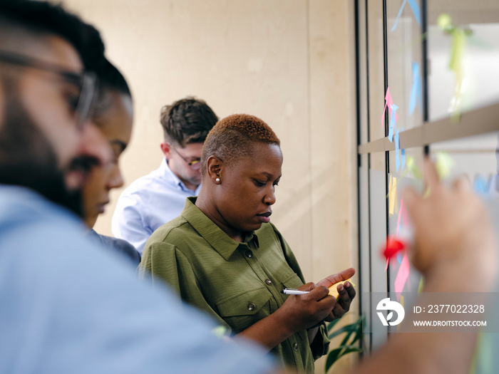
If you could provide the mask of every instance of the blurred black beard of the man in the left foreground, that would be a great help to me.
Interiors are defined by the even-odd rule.
[[[4,120],[0,125],[0,183],[33,189],[83,217],[81,191],[68,191],[50,142],[27,114],[14,85],[4,85],[4,88],[6,100]]]

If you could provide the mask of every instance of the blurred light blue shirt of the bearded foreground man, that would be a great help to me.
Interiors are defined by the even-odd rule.
[[[0,373],[264,373],[268,355],[86,237],[65,209],[0,186]]]

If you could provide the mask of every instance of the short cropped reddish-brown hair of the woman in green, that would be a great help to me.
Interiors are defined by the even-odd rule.
[[[201,174],[205,175],[210,156],[232,165],[242,157],[251,156],[255,142],[281,145],[270,126],[254,115],[235,114],[223,118],[212,128],[202,147]]]

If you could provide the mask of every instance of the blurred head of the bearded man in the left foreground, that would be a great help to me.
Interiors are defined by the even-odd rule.
[[[35,14],[30,28],[6,16],[0,31],[0,183],[29,187],[79,214],[86,173],[111,157],[90,120],[96,77],[83,71],[71,46],[82,43],[74,27],[68,38],[57,26],[40,36]]]

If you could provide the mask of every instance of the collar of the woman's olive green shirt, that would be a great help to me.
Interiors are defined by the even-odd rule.
[[[245,234],[243,242],[240,243],[229,237],[225,232],[218,227],[215,222],[209,219],[198,207],[195,206],[197,197],[187,197],[185,206],[182,210],[182,217],[191,224],[192,227],[205,239],[215,251],[217,251],[225,261],[229,261],[230,256],[234,253],[238,246],[248,246],[250,241],[253,241],[258,248],[258,237],[254,232]]]

